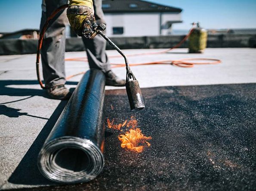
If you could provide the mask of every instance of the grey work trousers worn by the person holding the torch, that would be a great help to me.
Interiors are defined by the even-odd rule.
[[[67,4],[68,0],[43,0],[40,30],[46,19],[59,6]],[[96,23],[105,23],[102,11],[102,0],[93,0]],[[65,84],[65,26],[68,24],[66,10],[63,10],[49,23],[41,49],[43,79],[46,87]],[[105,53],[106,41],[97,35],[94,39],[82,38],[90,68],[110,70],[110,63]]]

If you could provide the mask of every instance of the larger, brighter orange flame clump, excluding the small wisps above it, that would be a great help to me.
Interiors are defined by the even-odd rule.
[[[136,152],[142,152],[144,146],[139,146],[139,143],[147,143],[147,145],[150,146],[150,143],[145,140],[152,139],[152,137],[144,136],[139,128],[131,128],[125,134],[121,134],[118,139],[121,141],[122,148],[127,148]]]

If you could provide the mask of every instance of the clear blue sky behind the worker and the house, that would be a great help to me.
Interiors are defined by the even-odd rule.
[[[256,0],[148,0],[182,8],[182,24],[200,21],[207,29],[256,28]],[[0,32],[39,28],[42,0],[0,0]]]

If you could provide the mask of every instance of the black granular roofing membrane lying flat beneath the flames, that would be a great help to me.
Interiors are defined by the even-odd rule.
[[[151,146],[127,151],[120,131],[106,128],[105,167],[96,179],[31,190],[255,190],[255,90],[256,84],[145,88],[145,110],[138,112],[130,112],[125,90],[108,90],[105,125],[107,118],[135,116]]]

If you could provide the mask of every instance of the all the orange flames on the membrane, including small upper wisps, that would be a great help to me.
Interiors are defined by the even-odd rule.
[[[148,143],[149,139],[152,139],[152,137],[146,137],[144,134],[142,134],[142,131],[140,128],[138,128],[138,121],[134,116],[131,116],[129,122],[125,120],[123,124],[119,123],[117,125],[114,124],[114,119],[110,121],[110,119],[107,119],[108,122],[108,128],[113,128],[119,131],[122,127],[126,125],[127,128],[130,127],[130,130],[127,131],[125,134],[120,134],[118,136],[118,139],[121,141],[121,147],[127,148],[135,152],[142,152],[145,146],[150,146],[151,144]]]

